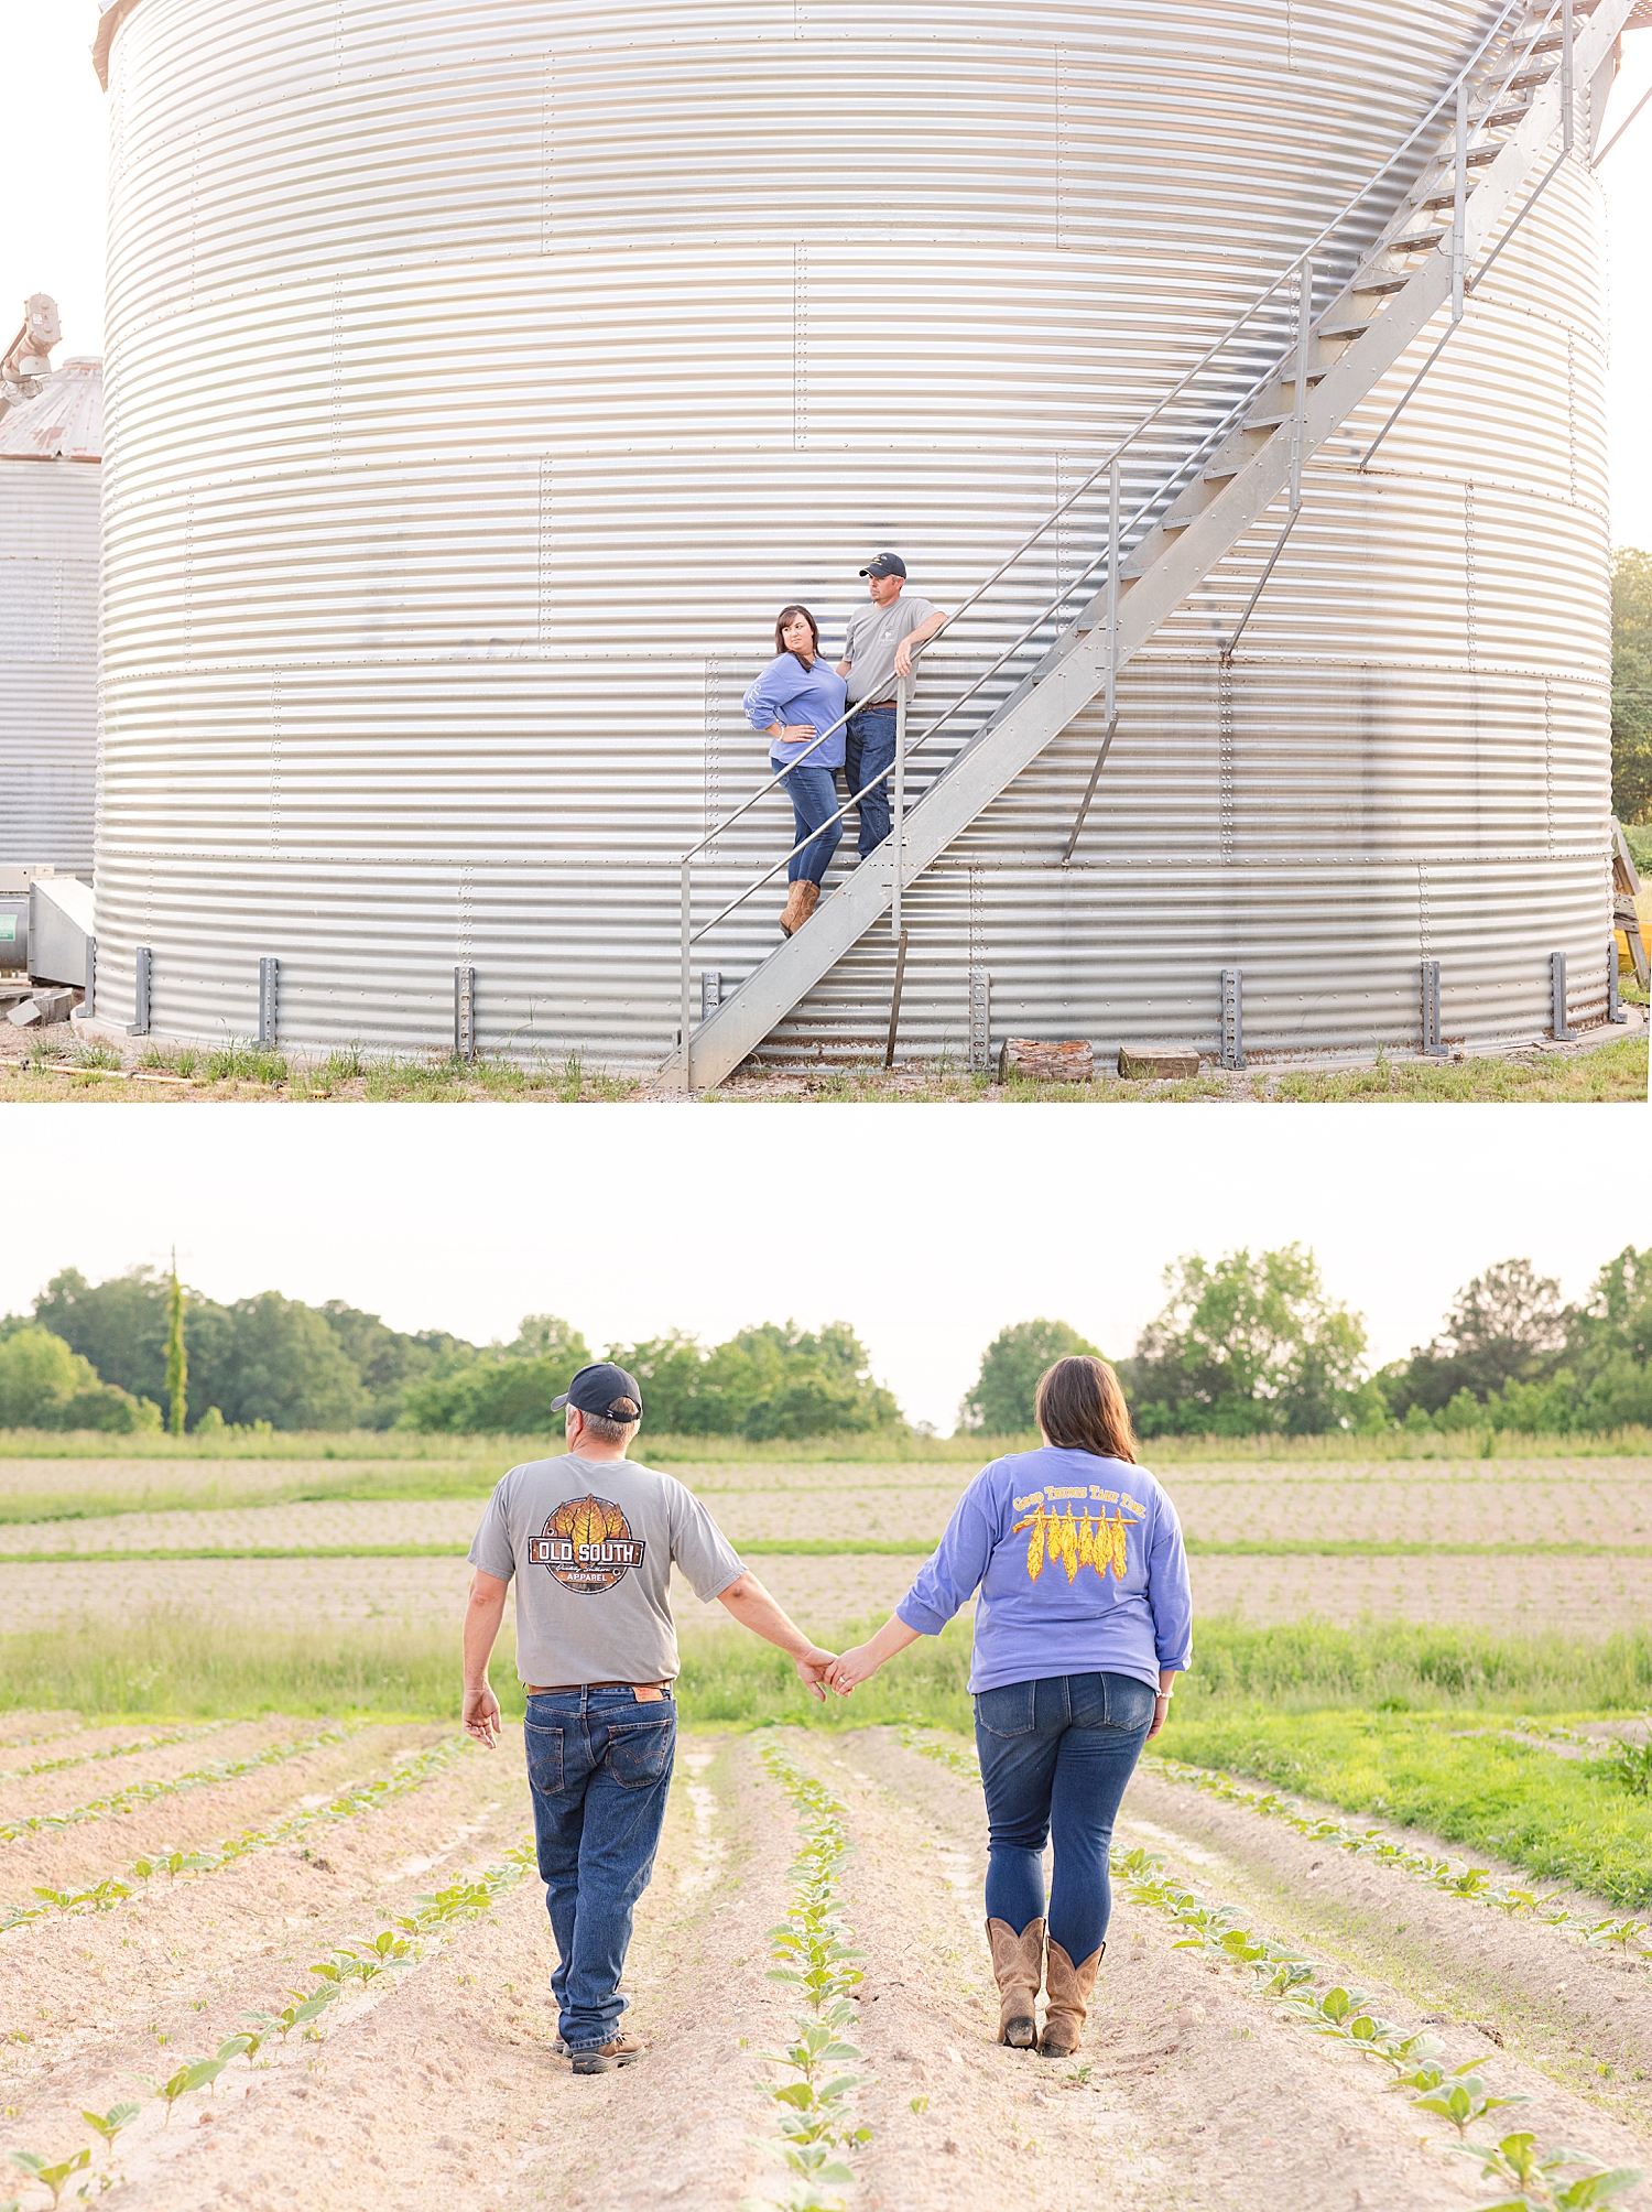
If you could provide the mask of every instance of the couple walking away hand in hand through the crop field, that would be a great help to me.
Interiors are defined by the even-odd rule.
[[[975,1599],[969,1688],[997,2039],[1075,2053],[1106,1951],[1112,1823],[1192,1659],[1177,1511],[1137,1464],[1106,1360],[1064,1358],[1039,1378],[1042,1447],[975,1475],[893,1615],[838,1655],[741,1566],[692,1491],[626,1458],[641,1427],[635,1376],[582,1367],[557,1409],[566,1455],[513,1467],[471,1544],[464,1728],[498,1743],[487,1668],[515,1579],[533,1823],[557,1944],[551,1989],[573,2070],[608,2073],[644,2055],[619,2026],[619,1980],[677,1745],[672,1566],[703,1604],[785,1650],[816,1697],[854,1694]]]

